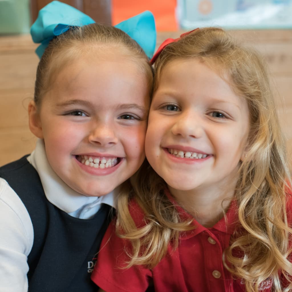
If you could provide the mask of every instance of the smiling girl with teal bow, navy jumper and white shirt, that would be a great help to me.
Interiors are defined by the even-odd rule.
[[[154,18],[110,27],[53,1],[31,34],[38,140],[0,168],[0,290],[96,291],[90,274],[115,198],[145,158]]]

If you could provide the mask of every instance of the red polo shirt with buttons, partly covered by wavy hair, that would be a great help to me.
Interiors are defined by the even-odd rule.
[[[173,201],[169,194],[168,197]],[[177,208],[182,218],[192,218],[183,208]],[[131,250],[131,244],[117,237],[114,224],[110,224],[91,279],[107,292],[146,291],[150,281],[159,292],[244,292],[244,281],[232,279],[222,262],[223,251],[229,245],[237,221],[236,210],[236,203],[232,201],[226,221],[222,218],[212,228],[193,220],[196,228],[180,237],[175,251],[170,245],[166,256],[153,270],[143,266],[120,268],[128,260],[124,248]],[[135,201],[131,202],[130,213],[138,227],[145,224],[143,212]],[[270,292],[271,287],[272,282],[268,279],[262,283],[260,291]]]

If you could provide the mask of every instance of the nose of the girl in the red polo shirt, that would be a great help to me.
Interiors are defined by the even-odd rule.
[[[202,118],[193,111],[180,115],[171,130],[174,135],[183,138],[200,138],[204,134]]]

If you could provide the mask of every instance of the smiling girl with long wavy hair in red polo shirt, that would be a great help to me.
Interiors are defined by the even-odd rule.
[[[92,279],[104,291],[291,291],[290,174],[267,70],[220,28],[154,55],[147,162]]]

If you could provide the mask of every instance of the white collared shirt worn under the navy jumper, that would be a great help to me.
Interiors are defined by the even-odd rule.
[[[48,163],[44,141],[39,139],[27,160],[39,173],[48,201],[69,215],[92,218],[101,204],[115,207],[117,190],[102,197],[86,197],[66,185]],[[27,256],[34,232],[32,221],[21,199],[0,178],[0,292],[27,292]]]

